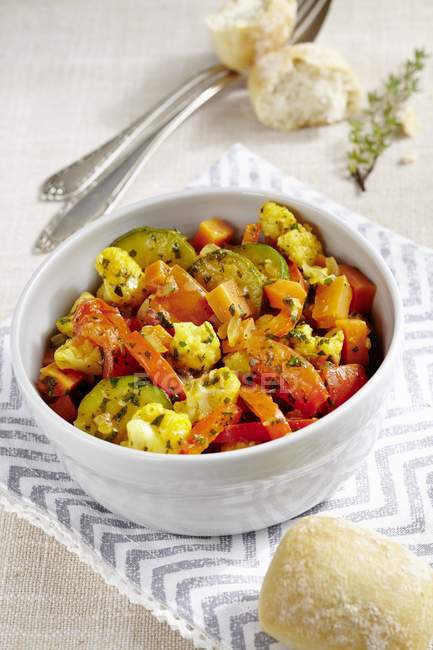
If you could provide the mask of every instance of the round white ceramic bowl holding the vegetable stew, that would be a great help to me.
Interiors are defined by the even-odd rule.
[[[356,265],[377,285],[374,317],[385,358],[368,383],[333,413],[295,434],[230,453],[176,456],[143,453],[99,440],[62,420],[39,397],[47,336],[77,294],[96,282],[97,253],[117,236],[149,224],[192,234],[221,215],[239,227],[272,198],[314,224],[326,249]],[[371,450],[393,383],[402,339],[395,281],[366,239],[332,214],[290,196],[248,190],[192,190],[113,212],[68,239],[40,266],[15,311],[13,366],[42,430],[82,488],[106,508],[153,528],[191,535],[257,530],[299,515],[328,497]]]

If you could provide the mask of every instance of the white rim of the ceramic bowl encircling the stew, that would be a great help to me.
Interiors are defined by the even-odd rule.
[[[27,376],[27,372],[24,369],[24,364],[20,352],[20,343],[18,333],[20,331],[20,324],[24,318],[26,312],[26,303],[29,296],[32,293],[33,284],[37,281],[42,272],[45,271],[50,265],[54,265],[57,260],[62,256],[63,252],[67,250],[71,245],[80,239],[92,236],[93,233],[97,232],[101,225],[106,225],[107,223],[114,223],[121,220],[124,216],[128,215],[132,210],[140,208],[149,208],[152,205],[160,203],[170,203],[176,202],[179,200],[184,200],[193,197],[205,197],[205,196],[223,196],[223,195],[232,195],[232,196],[253,196],[257,198],[267,198],[268,200],[275,200],[283,205],[293,204],[295,209],[299,210],[302,216],[302,210],[313,209],[322,214],[325,220],[329,221],[331,225],[337,225],[339,228],[344,230],[346,234],[349,235],[352,239],[355,238],[358,240],[358,243],[363,247],[368,255],[373,258],[376,266],[379,268],[382,277],[385,280],[387,289],[390,292],[391,300],[393,303],[394,310],[394,331],[392,333],[392,339],[389,345],[388,352],[386,353],[384,359],[382,360],[380,366],[375,371],[374,375],[370,377],[367,383],[349,398],[344,404],[339,406],[335,411],[328,413],[323,418],[317,420],[313,424],[308,425],[307,427],[300,429],[296,432],[296,436],[284,436],[276,440],[271,440],[266,444],[256,445],[253,447],[247,447],[244,449],[233,450],[230,453],[215,453],[215,454],[157,454],[148,452],[144,454],[143,452],[131,449],[128,447],[122,447],[120,445],[107,444],[107,441],[91,436],[88,433],[81,431],[73,424],[66,422],[61,418],[55,411],[49,408],[49,406],[43,401],[41,396],[36,390],[33,382]],[[388,372],[388,369],[392,369],[394,363],[398,360],[401,351],[401,340],[402,340],[402,331],[403,331],[403,306],[399,293],[397,283],[394,279],[391,270],[386,265],[385,261],[379,254],[379,252],[370,244],[370,242],[358,231],[352,229],[343,219],[336,216],[327,208],[322,206],[314,205],[309,201],[299,199],[296,196],[292,196],[290,193],[274,192],[273,190],[251,190],[250,188],[236,187],[236,188],[191,188],[184,189],[178,192],[169,192],[164,194],[158,194],[134,203],[130,203],[126,206],[113,210],[108,215],[104,215],[102,219],[95,220],[81,228],[74,235],[68,237],[64,242],[62,242],[56,250],[54,250],[49,257],[47,257],[32,274],[29,281],[24,286],[21,295],[19,296],[17,305],[14,310],[12,324],[11,324],[11,358],[14,372],[17,377],[18,386],[20,390],[25,394],[27,402],[30,403],[30,409],[32,412],[43,412],[42,417],[50,421],[53,425],[53,428],[58,427],[60,424],[65,428],[65,433],[73,436],[75,441],[78,444],[88,445],[93,447],[95,451],[100,451],[101,453],[118,455],[121,454],[121,457],[128,462],[134,463],[160,463],[169,464],[170,466],[178,463],[185,463],[185,465],[191,466],[191,464],[196,465],[201,464],[213,464],[213,463],[236,463],[240,460],[247,461],[248,458],[252,459],[256,455],[264,455],[266,453],[277,452],[279,449],[285,448],[305,440],[309,437],[314,437],[319,433],[320,429],[329,426],[335,426],[338,422],[343,420],[346,417],[346,414],[351,411],[359,402],[362,400],[368,400],[368,397],[374,393],[376,387],[381,382],[383,376]],[[117,456],[118,459],[119,456]]]

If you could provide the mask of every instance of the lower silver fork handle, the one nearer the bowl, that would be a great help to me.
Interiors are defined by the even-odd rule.
[[[237,79],[239,79],[237,73],[227,72],[221,79],[203,90],[188,106],[170,120],[156,136],[149,138],[144,145],[142,144],[130,154],[100,183],[81,194],[75,200],[65,203],[39,235],[35,244],[35,252],[48,253],[84,224],[102,216],[120,199],[140,166],[147,162],[159,145],[200,106]]]

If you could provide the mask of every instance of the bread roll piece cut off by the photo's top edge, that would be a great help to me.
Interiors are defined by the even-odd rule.
[[[296,0],[229,0],[208,16],[215,51],[233,70],[246,70],[255,59],[281,47],[293,31]]]

